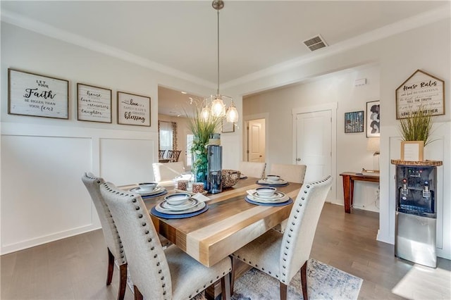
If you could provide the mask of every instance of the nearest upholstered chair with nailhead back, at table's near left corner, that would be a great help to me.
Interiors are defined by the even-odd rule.
[[[141,196],[107,182],[100,192],[128,254],[135,299],[191,299],[221,278],[223,299],[230,299],[230,258],[207,268],[177,246],[161,247]]]

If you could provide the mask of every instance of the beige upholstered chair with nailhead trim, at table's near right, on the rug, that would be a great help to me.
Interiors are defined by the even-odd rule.
[[[292,206],[285,233],[268,230],[235,251],[232,254],[233,263],[236,260],[243,261],[279,280],[280,299],[287,299],[287,287],[300,269],[302,294],[304,300],[307,300],[307,261],[319,215],[331,184],[331,176],[319,182],[306,183]],[[232,291],[235,269],[232,271]]]

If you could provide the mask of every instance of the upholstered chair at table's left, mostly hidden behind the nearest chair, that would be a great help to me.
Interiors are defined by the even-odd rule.
[[[92,202],[99,215],[100,224],[104,232],[106,247],[108,249],[108,273],[106,275],[106,285],[111,284],[113,278],[114,261],[118,261],[119,265],[119,291],[118,300],[124,299],[125,288],[127,287],[127,258],[123,251],[121,237],[118,235],[116,225],[114,225],[113,218],[106,205],[104,199],[100,194],[100,185],[104,183],[103,178],[95,177],[91,173],[85,173],[82,177],[82,182],[85,184]]]

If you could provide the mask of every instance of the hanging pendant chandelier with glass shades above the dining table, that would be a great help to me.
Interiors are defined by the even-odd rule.
[[[216,118],[226,117],[227,122],[236,123],[238,121],[238,111],[235,104],[233,104],[233,98],[219,93],[219,10],[224,7],[224,1],[214,0],[211,6],[216,9],[218,15],[218,88],[216,89],[216,95],[211,95],[205,99],[201,115],[205,120],[212,115]],[[227,109],[223,99],[230,100],[230,106]]]

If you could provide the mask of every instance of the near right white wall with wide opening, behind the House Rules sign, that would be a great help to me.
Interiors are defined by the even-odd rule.
[[[323,56],[321,60],[309,60],[305,63],[294,64],[292,68],[284,70],[275,75],[267,75],[255,79],[242,85],[235,85],[233,90],[237,94],[251,94],[261,92],[268,88],[280,87],[302,82],[319,75],[334,73],[337,70],[345,70],[357,65],[367,63],[378,63],[380,67],[380,99],[381,99],[381,194],[380,194],[380,225],[378,240],[393,244],[395,237],[395,199],[390,190],[391,158],[394,157],[393,149],[397,147],[399,139],[397,137],[397,123],[395,118],[395,89],[404,82],[417,69],[424,70],[445,81],[445,108],[446,115],[435,118],[437,123],[445,123],[449,126],[451,120],[451,30],[449,13],[446,18],[440,18],[436,22],[422,23],[424,20],[415,20],[409,26],[412,29],[402,32],[399,28],[394,28],[393,35],[390,28],[385,28],[388,37],[375,42],[357,46],[347,51],[338,51],[330,56]],[[426,22],[426,21],[425,21]],[[430,22],[430,20],[428,20]],[[403,24],[405,25],[405,24]],[[418,27],[416,27],[418,26]],[[380,33],[380,32],[379,32]],[[285,109],[286,108],[281,108]],[[286,123],[285,120],[280,122]],[[284,125],[286,126],[286,124]],[[280,138],[280,137],[279,137]],[[396,141],[396,142],[395,142]],[[431,153],[435,155],[431,158],[441,159],[444,163],[450,161],[450,138],[449,131],[443,135],[442,144],[431,144]],[[429,146],[428,146],[429,147]],[[438,153],[440,152],[440,153]],[[397,152],[399,153],[399,152]],[[292,157],[285,153],[284,156]],[[438,230],[439,238],[443,239],[443,246],[438,248],[438,256],[451,258],[451,219],[450,209],[450,186],[451,186],[451,165],[443,165],[443,190],[438,191],[443,197],[443,227]],[[438,197],[440,197],[438,195]],[[439,199],[439,201],[441,201]]]

